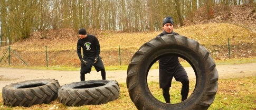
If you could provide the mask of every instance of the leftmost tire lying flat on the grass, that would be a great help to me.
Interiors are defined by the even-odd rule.
[[[48,104],[58,97],[59,86],[54,79],[28,80],[6,85],[2,96],[4,104],[12,107]]]

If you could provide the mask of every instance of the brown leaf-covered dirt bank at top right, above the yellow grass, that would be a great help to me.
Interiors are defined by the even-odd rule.
[[[239,25],[256,33],[256,4],[245,4],[236,6],[214,5],[213,16],[209,19],[206,9],[200,8],[184,20],[185,25],[197,25],[207,23],[230,23]]]

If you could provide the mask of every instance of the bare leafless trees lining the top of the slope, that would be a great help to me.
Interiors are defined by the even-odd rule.
[[[162,21],[172,16],[175,25],[198,8],[205,7],[209,18],[212,6],[253,3],[255,0],[1,0],[0,46],[7,41],[19,41],[40,31],[46,37],[47,29],[81,27],[103,30],[156,31],[162,30]]]

